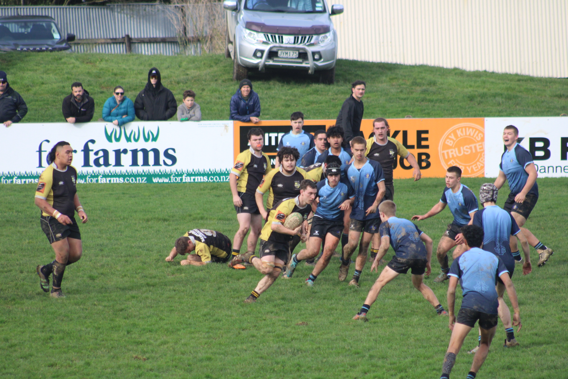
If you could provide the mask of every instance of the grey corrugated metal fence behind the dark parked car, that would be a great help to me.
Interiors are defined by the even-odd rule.
[[[168,18],[168,9],[158,4],[94,6],[23,6],[0,7],[1,16],[14,15],[52,16],[63,35],[73,33],[78,39],[176,37],[176,29]],[[73,45],[74,52],[124,53],[122,43]],[[132,52],[138,54],[176,55],[177,42],[133,43]],[[193,55],[201,53],[201,45],[191,49]]]

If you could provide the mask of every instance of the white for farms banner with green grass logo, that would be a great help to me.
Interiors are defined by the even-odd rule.
[[[80,183],[224,182],[233,160],[232,121],[18,123],[0,128],[2,184],[37,182],[62,140]]]

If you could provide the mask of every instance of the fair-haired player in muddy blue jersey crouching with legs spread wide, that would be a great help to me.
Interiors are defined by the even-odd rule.
[[[379,213],[382,220],[379,228],[382,236],[381,247],[373,261],[371,272],[373,270],[377,271],[379,261],[389,250],[389,244],[392,245],[395,256],[392,257],[392,260],[383,269],[381,275],[371,287],[365,299],[365,304],[361,307],[361,311],[353,319],[366,321],[367,312],[375,300],[377,300],[381,289],[399,274],[406,274],[408,269],[412,273],[412,285],[432,304],[438,315],[447,315],[448,313],[438,302],[433,291],[422,282],[424,272],[429,275],[432,270],[430,266],[432,239],[409,220],[396,217],[396,205],[390,200],[383,201],[379,205]],[[426,244],[425,247],[423,242]]]

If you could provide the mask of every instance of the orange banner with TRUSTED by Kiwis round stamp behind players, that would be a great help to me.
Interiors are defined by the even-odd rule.
[[[373,120],[361,122],[365,139],[373,131]],[[335,120],[306,120],[304,131],[314,133],[327,129]],[[462,176],[482,177],[485,174],[485,119],[389,119],[390,135],[400,141],[415,156],[423,177],[444,177],[446,168],[459,166]],[[265,132],[265,151],[276,154],[278,142],[290,131],[288,120],[262,121],[257,124],[234,122],[234,155],[248,148],[247,133],[259,127]],[[412,167],[399,157],[394,178],[412,177]]]

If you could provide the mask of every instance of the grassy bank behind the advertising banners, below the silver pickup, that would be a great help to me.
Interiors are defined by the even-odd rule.
[[[24,122],[63,122],[62,99],[75,81],[95,99],[95,116],[116,85],[134,100],[157,66],[162,83],[178,105],[183,90],[193,89],[204,120],[229,116],[229,99],[237,89],[232,61],[221,55],[146,56],[73,53],[3,53],[0,66],[10,85],[30,109]],[[431,66],[405,66],[339,60],[336,84],[318,83],[300,72],[252,72],[261,98],[261,118],[287,119],[300,110],[308,119],[335,119],[350,94],[350,83],[367,82],[365,118],[558,116],[568,113],[568,81],[514,74],[467,72]],[[174,116],[173,119],[176,119]]]

